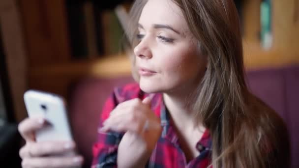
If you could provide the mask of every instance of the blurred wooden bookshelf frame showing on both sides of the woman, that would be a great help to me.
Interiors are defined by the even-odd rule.
[[[26,58],[23,58],[26,60],[26,71],[23,72],[26,73],[26,79],[23,81],[28,88],[67,96],[68,86],[82,78],[130,75],[130,61],[124,54],[74,59],[68,32],[66,0],[16,2],[22,23],[20,28],[24,34],[25,51],[22,54],[26,53]],[[273,44],[269,50],[260,46],[260,2],[243,0],[242,3],[246,69],[299,64],[298,0],[271,0]]]

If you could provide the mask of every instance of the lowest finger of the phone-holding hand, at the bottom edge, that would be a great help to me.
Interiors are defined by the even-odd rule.
[[[74,168],[83,164],[82,156],[25,158],[22,168]]]

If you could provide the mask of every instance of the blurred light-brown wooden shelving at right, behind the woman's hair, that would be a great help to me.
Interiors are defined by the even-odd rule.
[[[260,2],[243,0],[243,47],[247,69],[299,64],[298,0],[271,0],[273,42],[269,50],[260,45]]]

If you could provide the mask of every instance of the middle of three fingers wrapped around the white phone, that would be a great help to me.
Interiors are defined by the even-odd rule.
[[[63,154],[75,149],[75,143],[69,142],[28,142],[24,147],[20,149],[20,157],[39,157],[45,155]]]

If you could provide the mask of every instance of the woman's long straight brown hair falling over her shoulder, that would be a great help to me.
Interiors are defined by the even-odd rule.
[[[289,139],[282,119],[253,96],[244,80],[239,17],[233,0],[173,0],[208,56],[207,71],[193,95],[195,116],[212,137],[213,168],[289,166]],[[136,0],[128,34],[133,46],[147,0]],[[133,65],[134,59],[132,59]],[[138,75],[133,77],[138,81]]]

